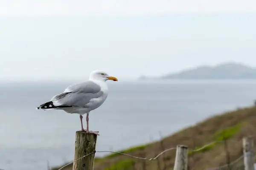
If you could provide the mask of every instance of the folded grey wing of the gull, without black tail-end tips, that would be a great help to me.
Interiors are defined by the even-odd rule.
[[[91,104],[91,99],[97,99],[102,94],[100,86],[88,80],[70,85],[63,93],[53,96],[51,101],[55,106],[68,105],[87,108]]]

